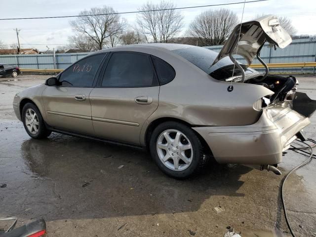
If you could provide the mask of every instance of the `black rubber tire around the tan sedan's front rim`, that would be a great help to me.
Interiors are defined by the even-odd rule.
[[[26,113],[29,109],[32,109],[36,113],[36,116],[38,118],[38,123],[39,123],[38,124],[38,131],[35,134],[29,130],[29,128],[27,127],[27,124],[26,124]],[[32,138],[43,139],[43,138],[48,137],[51,133],[51,131],[46,128],[43,117],[41,116],[39,109],[36,107],[36,105],[34,105],[32,103],[26,103],[24,105],[24,107],[22,109],[22,121],[23,121],[23,125],[24,125],[26,132]]]

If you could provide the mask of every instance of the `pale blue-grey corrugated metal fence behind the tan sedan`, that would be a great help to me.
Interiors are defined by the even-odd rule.
[[[219,52],[220,46],[207,46],[206,48]],[[57,53],[53,54],[29,54],[29,55],[0,55],[0,63],[18,65],[24,69],[65,69],[88,53]],[[305,38],[293,40],[284,49],[269,47],[265,44],[261,50],[261,58],[266,63],[300,63],[316,62],[316,39]],[[245,63],[245,60],[238,58]],[[253,64],[260,63],[257,59]],[[264,70],[264,69],[258,69]],[[277,73],[315,73],[315,67],[303,68],[271,68],[271,72]],[[303,71],[302,71],[303,70]]]

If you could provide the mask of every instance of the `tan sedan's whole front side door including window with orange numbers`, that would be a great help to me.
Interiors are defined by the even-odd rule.
[[[46,122],[67,131],[93,134],[89,94],[104,54],[79,60],[60,75],[57,86],[42,93]]]

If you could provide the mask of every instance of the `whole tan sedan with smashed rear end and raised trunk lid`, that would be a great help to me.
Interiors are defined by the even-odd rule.
[[[210,157],[279,173],[316,103],[296,92],[295,77],[269,74],[265,42],[291,43],[272,15],[237,25],[219,54],[172,43],[100,50],[18,93],[13,108],[33,138],[54,131],[147,147],[176,178],[198,173]],[[236,55],[248,65],[257,57],[266,72]]]

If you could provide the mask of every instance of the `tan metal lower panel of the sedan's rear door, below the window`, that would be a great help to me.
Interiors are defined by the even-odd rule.
[[[149,104],[138,104],[139,96]],[[94,135],[120,142],[140,144],[146,119],[158,108],[159,86],[138,88],[94,88],[89,96]]]

